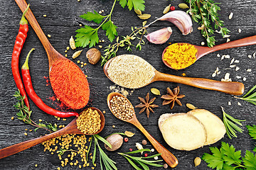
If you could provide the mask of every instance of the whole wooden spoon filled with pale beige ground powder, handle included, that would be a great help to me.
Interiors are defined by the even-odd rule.
[[[129,89],[138,89],[154,81],[171,81],[233,95],[241,95],[245,89],[245,86],[240,82],[224,82],[164,74],[158,72],[149,62],[136,55],[119,55],[112,58],[105,64],[104,72],[107,78],[115,84]]]

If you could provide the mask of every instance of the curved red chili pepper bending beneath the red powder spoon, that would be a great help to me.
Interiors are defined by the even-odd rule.
[[[31,52],[33,50],[35,50],[35,49],[32,48],[30,50],[30,52],[28,52],[28,56],[26,57],[26,61],[25,61],[25,63],[23,64],[23,66],[21,68],[21,74],[22,74],[24,86],[25,86],[26,92],[28,93],[28,96],[31,98],[33,103],[35,103],[36,106],[38,106],[38,108],[40,108],[42,111],[44,111],[44,112],[46,112],[50,115],[56,115],[60,118],[68,118],[68,117],[73,116],[73,115],[78,117],[78,113],[75,113],[75,112],[65,113],[65,112],[57,111],[54,108],[50,108],[45,103],[43,103],[41,98],[39,98],[37,96],[37,94],[34,91],[33,86],[32,86],[31,76],[29,74],[29,67],[28,67],[28,57],[29,57],[29,55],[31,54]]]

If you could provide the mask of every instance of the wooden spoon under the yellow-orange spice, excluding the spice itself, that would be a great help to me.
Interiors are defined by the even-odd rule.
[[[188,43],[179,42],[177,44],[188,44]],[[224,43],[221,45],[215,45],[214,47],[202,47],[202,46],[197,46],[197,45],[193,45],[193,46],[196,47],[196,49],[198,50],[198,52],[196,54],[196,61],[197,61],[204,55],[209,54],[210,52],[215,52],[218,50],[225,50],[225,49],[233,48],[233,47],[255,45],[255,44],[256,44],[256,35],[247,37],[247,38],[242,38],[240,40],[230,41],[230,42],[227,42],[227,43]],[[191,44],[188,44],[188,45],[191,45]],[[164,61],[164,53],[166,52],[166,49],[167,49],[167,47],[164,49],[164,52],[162,54],[162,60],[163,60],[164,64],[166,64],[167,67],[174,69],[170,66],[170,64],[168,64],[166,61]],[[185,68],[186,67],[181,68],[181,69],[185,69]]]

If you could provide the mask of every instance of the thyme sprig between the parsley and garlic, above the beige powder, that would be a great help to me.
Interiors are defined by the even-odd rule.
[[[117,51],[119,47],[125,47],[127,51],[132,51],[132,40],[139,39],[139,42],[136,45],[136,50],[142,50],[142,45],[145,45],[144,40],[142,40],[144,34],[146,33],[146,27],[144,27],[146,23],[143,23],[143,26],[140,28],[132,27],[132,33],[130,35],[122,36],[122,40],[119,41],[119,36],[117,37],[117,42],[113,45],[109,45],[105,47],[105,53],[102,56],[101,65],[105,64],[107,60],[110,60],[111,57],[115,57],[117,55]]]

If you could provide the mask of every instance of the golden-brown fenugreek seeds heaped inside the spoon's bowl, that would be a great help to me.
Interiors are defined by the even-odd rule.
[[[85,134],[94,134],[100,130],[100,114],[91,108],[82,111],[76,122],[78,129]]]

